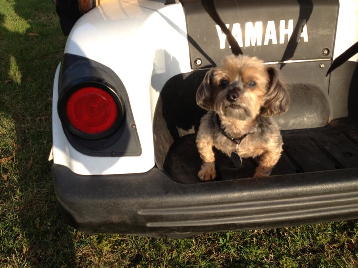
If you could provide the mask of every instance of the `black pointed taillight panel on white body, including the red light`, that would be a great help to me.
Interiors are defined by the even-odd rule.
[[[57,113],[69,143],[93,156],[142,153],[127,91],[109,67],[64,54]]]

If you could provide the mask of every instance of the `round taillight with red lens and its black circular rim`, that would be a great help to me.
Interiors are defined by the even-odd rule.
[[[124,118],[124,106],[111,87],[88,82],[69,89],[60,98],[59,115],[72,134],[98,140],[118,130]]]

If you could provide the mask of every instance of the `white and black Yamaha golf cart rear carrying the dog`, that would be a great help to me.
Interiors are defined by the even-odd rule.
[[[228,166],[206,183],[196,176],[194,136],[204,111],[195,106],[195,90],[231,51],[200,1],[181,2],[108,1],[84,14],[68,36],[53,88],[52,173],[69,223],[88,232],[184,237],[358,217],[358,113],[350,104],[358,96],[358,55],[326,76],[358,41],[358,2],[216,1],[243,53],[281,68],[292,103],[277,118],[287,153],[272,176],[251,178],[249,163],[244,175]],[[121,87],[126,111],[123,134],[99,149],[91,144],[102,140],[72,137],[58,105],[66,88],[94,76]],[[317,144],[321,135],[327,144],[327,136],[345,129],[350,144],[343,137],[332,138],[331,147]],[[334,168],[327,167],[312,146],[294,154],[296,139],[301,148],[340,149],[348,160],[333,153],[327,161]],[[317,163],[303,159],[308,154]]]

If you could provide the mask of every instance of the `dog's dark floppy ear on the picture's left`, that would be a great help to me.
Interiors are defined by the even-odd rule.
[[[212,105],[212,87],[213,87],[213,77],[214,68],[211,68],[202,80],[198,90],[196,91],[196,103],[201,108],[211,111],[214,110]]]

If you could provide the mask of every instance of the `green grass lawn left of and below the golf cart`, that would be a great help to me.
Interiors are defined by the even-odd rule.
[[[65,41],[51,0],[0,0],[0,267],[358,267],[357,220],[168,241],[66,225],[47,161]]]

